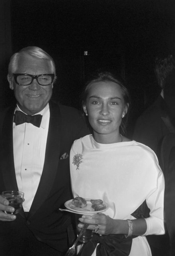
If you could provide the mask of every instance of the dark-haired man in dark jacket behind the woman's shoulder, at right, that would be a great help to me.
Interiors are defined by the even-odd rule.
[[[160,162],[160,148],[164,136],[175,133],[175,122],[173,122],[173,115],[171,115],[172,110],[175,109],[173,109],[175,101],[173,98],[170,100],[170,95],[174,97],[175,94],[169,90],[169,88],[175,88],[175,60],[172,55],[166,58],[157,58],[155,74],[161,93],[157,100],[137,119],[133,139],[154,150]],[[147,236],[147,240],[153,256],[167,255],[166,252],[169,250],[167,233],[162,236]]]

